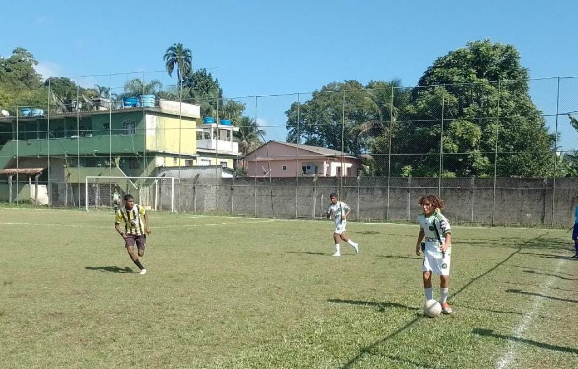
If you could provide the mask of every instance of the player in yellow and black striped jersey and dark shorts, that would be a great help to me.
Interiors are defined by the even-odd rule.
[[[123,222],[124,232],[120,226],[120,223]],[[131,257],[132,262],[139,267],[139,274],[145,274],[146,269],[140,263],[139,256],[141,258],[144,256],[146,236],[150,234],[149,215],[147,215],[144,207],[135,204],[135,199],[131,195],[124,196],[124,206],[117,210],[114,229],[124,238],[128,255]],[[135,245],[138,249],[138,254],[135,252]]]

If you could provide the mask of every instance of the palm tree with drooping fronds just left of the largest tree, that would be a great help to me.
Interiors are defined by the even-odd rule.
[[[396,122],[402,114],[403,108],[409,103],[409,91],[401,87],[401,80],[394,79],[387,82],[370,82],[365,99],[368,102],[372,118],[355,126],[354,133],[358,139],[377,137],[386,132],[390,120]],[[393,101],[391,94],[393,93]]]

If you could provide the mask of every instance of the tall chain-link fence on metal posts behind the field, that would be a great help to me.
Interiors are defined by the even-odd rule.
[[[356,219],[398,220],[435,194],[454,221],[573,221],[578,77],[239,98],[163,78],[79,78],[2,107],[0,201],[112,208],[146,193],[157,210],[312,218],[335,192]]]

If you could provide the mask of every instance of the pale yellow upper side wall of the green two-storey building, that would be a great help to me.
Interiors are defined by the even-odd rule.
[[[179,117],[172,115],[147,111],[146,150],[177,154],[180,152],[183,155],[196,154],[197,120],[190,117],[181,117],[179,120]],[[166,166],[169,166],[169,163]]]

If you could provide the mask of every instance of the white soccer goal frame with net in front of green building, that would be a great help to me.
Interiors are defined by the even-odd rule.
[[[84,208],[111,208],[114,196],[130,193],[138,203],[150,210],[158,210],[170,197],[171,213],[175,213],[175,180],[177,177],[84,177]],[[166,186],[170,184],[170,191]],[[162,191],[165,189],[165,191]],[[169,196],[166,196],[168,192]],[[163,201],[164,200],[164,201]],[[168,199],[167,199],[168,200]]]

